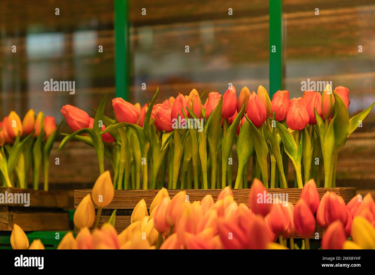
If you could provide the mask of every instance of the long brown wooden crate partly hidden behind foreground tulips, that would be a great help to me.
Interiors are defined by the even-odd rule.
[[[214,201],[216,201],[221,189],[209,189],[209,190],[194,190],[194,189],[184,189],[186,194],[189,195],[190,201],[199,201],[205,195],[211,194]],[[296,205],[300,198],[302,189],[298,188],[287,188],[287,189],[267,189],[269,193],[288,193],[288,201],[293,205]],[[345,187],[345,188],[318,188],[318,193],[320,198],[326,193],[326,191],[335,192],[337,195],[342,196],[347,204],[351,198],[356,195],[356,188]],[[116,222],[115,228],[118,233],[124,230],[130,224],[130,216],[136,204],[144,199],[147,208],[150,207],[155,195],[159,190],[115,190],[115,195],[112,202],[102,210],[102,216],[100,219],[99,226],[102,223],[108,222],[113,210],[116,211]],[[172,198],[181,190],[168,190],[169,197]],[[249,195],[250,189],[232,189],[234,199],[237,203],[245,203],[249,205]],[[81,200],[87,195],[91,194],[91,189],[74,190],[74,208],[77,208]],[[96,205],[94,204],[95,208]],[[317,232],[322,236],[322,229],[317,228]],[[77,229],[76,229],[77,232]]]

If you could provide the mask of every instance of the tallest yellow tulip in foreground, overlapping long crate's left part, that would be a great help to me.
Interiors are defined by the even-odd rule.
[[[111,203],[113,195],[114,189],[111,174],[110,171],[105,171],[94,184],[92,190],[93,201],[98,207],[106,207]]]

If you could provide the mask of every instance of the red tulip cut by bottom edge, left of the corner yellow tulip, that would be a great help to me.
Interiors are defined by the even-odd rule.
[[[326,232],[324,232],[322,240],[323,249],[342,249],[344,242],[347,240],[344,226],[340,220],[331,223]]]

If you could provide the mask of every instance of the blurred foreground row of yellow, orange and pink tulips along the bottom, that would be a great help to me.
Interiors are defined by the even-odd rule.
[[[170,199],[162,188],[149,209],[143,199],[139,201],[131,224],[120,234],[114,229],[115,211],[100,229],[100,211],[95,218],[93,201],[99,208],[105,207],[113,194],[107,171],[96,181],[92,196],[87,195],[75,211],[77,237],[71,232],[66,234],[58,249],[309,249],[312,235],[321,239],[323,249],[375,248],[372,196],[362,198],[358,194],[345,205],[340,196],[327,191],[320,199],[314,180],[305,184],[295,206],[264,201],[267,190],[256,178],[251,186],[250,208],[237,204],[229,186],[216,202],[211,195],[190,202],[185,191]],[[316,232],[317,223],[324,229],[323,236]],[[304,239],[302,247],[294,244],[296,235]],[[15,226],[11,235],[13,249],[26,249],[28,244],[22,229]],[[39,242],[34,247],[43,248]]]

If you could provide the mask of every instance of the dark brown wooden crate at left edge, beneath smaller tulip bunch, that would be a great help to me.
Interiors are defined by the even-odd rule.
[[[30,194],[30,205],[0,203],[0,231],[11,231],[13,224],[24,231],[69,229],[69,215],[64,211],[72,206],[69,192],[0,187],[1,193]]]

